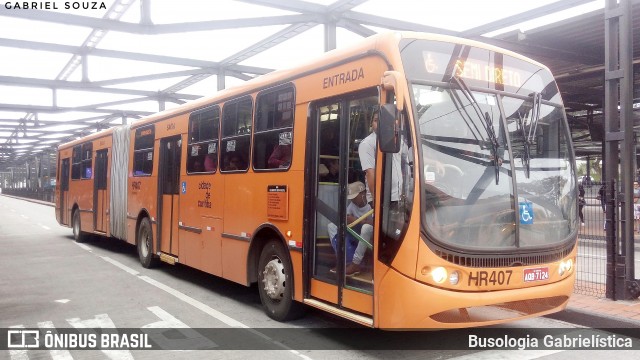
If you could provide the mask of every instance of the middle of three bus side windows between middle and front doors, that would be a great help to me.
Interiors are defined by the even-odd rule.
[[[244,171],[251,153],[251,97],[224,104],[221,171]]]

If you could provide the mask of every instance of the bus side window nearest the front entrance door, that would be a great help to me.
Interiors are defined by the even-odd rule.
[[[288,169],[293,140],[294,89],[269,90],[258,96],[253,168]]]

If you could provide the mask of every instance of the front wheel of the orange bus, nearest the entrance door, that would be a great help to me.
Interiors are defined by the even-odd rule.
[[[267,315],[289,321],[303,315],[304,307],[293,299],[293,269],[281,241],[270,240],[258,260],[258,291]]]

